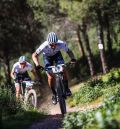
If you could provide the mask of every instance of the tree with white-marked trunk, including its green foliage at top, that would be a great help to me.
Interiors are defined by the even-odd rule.
[[[94,24],[96,24],[96,28],[98,31],[98,43],[104,45],[104,35],[103,35],[103,17],[102,17],[102,11],[101,8],[104,5],[105,0],[102,1],[96,1],[96,0],[91,0],[91,1],[86,1],[84,0],[82,2],[81,10],[84,12],[84,16],[87,19],[89,19],[89,23],[93,21]],[[101,50],[101,49],[100,49]],[[100,58],[102,62],[102,68],[103,68],[103,73],[106,73],[108,71],[108,66],[106,63],[106,58],[105,58],[105,53],[104,53],[104,47],[100,51]]]

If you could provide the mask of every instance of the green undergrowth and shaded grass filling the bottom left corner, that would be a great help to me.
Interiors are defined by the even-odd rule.
[[[43,118],[45,113],[38,113],[30,109],[8,88],[0,87],[0,127],[3,129],[26,128],[38,118]],[[9,122],[8,122],[9,121]]]

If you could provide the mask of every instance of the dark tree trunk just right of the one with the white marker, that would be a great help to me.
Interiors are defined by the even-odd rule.
[[[111,37],[110,37],[110,24],[109,24],[109,17],[106,13],[104,14],[104,22],[105,22],[106,33],[107,33],[108,53],[109,53],[110,56],[112,56],[113,55],[113,50],[112,50],[112,40],[111,40]]]

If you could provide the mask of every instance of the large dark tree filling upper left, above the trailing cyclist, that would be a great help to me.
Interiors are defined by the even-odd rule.
[[[10,60],[35,49],[38,23],[26,0],[2,0],[0,5],[0,60],[10,84]]]

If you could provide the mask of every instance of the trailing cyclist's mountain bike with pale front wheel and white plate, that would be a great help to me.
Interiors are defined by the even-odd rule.
[[[33,89],[34,81],[20,81],[20,98],[30,109],[37,107],[37,95]]]

